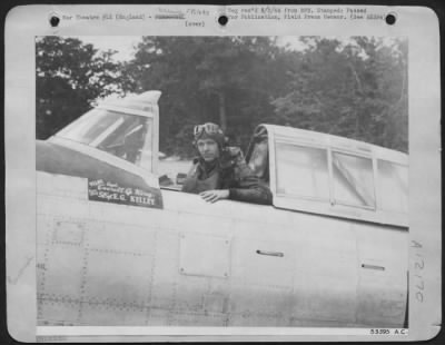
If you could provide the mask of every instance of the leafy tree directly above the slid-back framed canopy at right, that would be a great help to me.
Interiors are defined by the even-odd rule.
[[[303,38],[267,120],[407,151],[406,41]]]

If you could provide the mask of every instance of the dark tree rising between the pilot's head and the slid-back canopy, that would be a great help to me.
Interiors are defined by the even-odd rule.
[[[197,66],[199,89],[214,98],[219,124],[246,146],[260,119],[273,112],[270,99],[285,82],[279,48],[268,37],[208,38]]]

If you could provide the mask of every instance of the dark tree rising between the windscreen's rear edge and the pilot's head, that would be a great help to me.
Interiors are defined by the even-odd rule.
[[[137,81],[135,91],[160,90],[160,150],[180,156],[191,155],[192,125],[204,117],[199,101],[195,63],[200,46],[195,37],[144,37],[127,66]],[[188,129],[189,131],[186,131]]]

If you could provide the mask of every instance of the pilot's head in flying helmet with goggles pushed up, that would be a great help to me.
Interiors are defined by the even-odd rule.
[[[195,146],[205,161],[214,161],[225,145],[225,136],[218,125],[207,122],[195,126]]]

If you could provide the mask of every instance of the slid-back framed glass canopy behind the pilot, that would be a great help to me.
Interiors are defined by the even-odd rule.
[[[375,145],[260,125],[247,152],[276,207],[406,227],[408,157]]]

